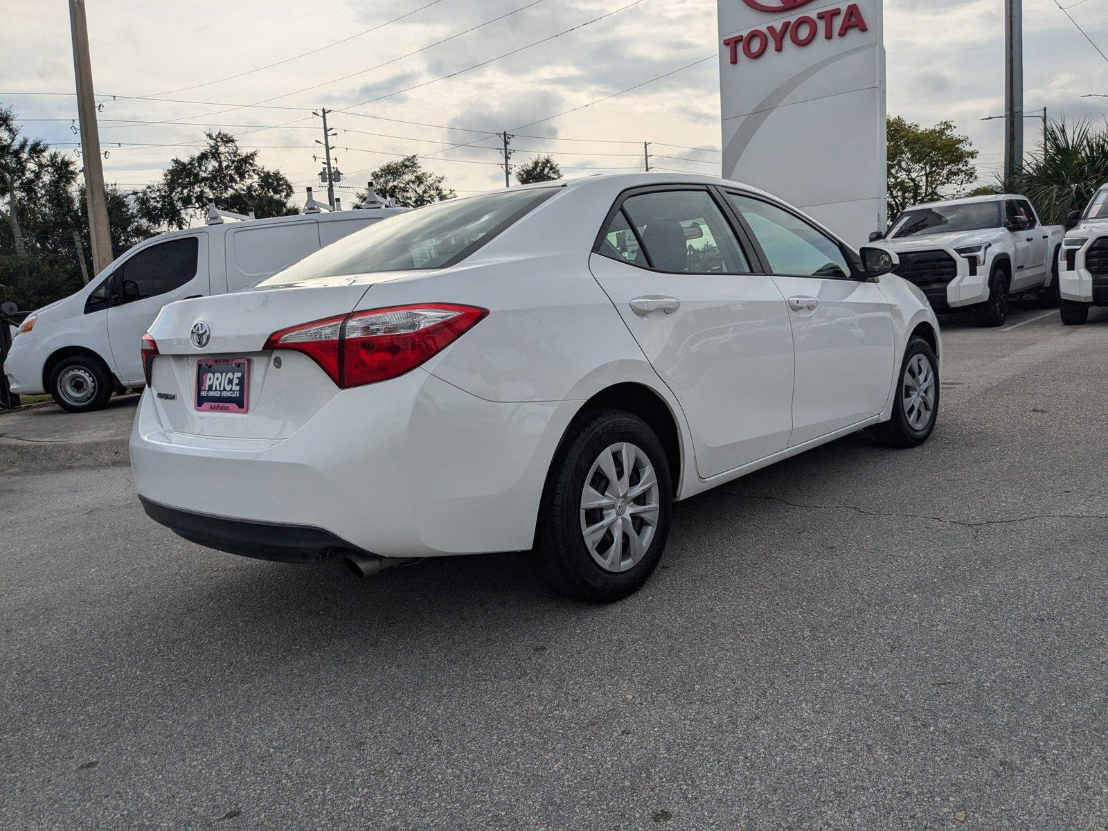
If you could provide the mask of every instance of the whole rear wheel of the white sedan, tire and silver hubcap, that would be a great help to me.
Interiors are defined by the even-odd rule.
[[[620,410],[586,413],[554,456],[535,564],[558,594],[612,603],[654,573],[669,534],[673,484],[661,442]]]

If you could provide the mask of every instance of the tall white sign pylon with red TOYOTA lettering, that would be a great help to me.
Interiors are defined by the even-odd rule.
[[[853,245],[884,229],[882,0],[718,0],[724,176]]]

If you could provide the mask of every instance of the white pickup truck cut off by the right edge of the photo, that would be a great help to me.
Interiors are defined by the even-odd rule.
[[[1108,184],[1092,195],[1084,213],[1074,212],[1061,244],[1061,322],[1089,319],[1090,306],[1108,306]]]

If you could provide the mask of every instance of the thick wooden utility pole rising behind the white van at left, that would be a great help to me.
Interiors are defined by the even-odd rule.
[[[76,76],[76,112],[81,123],[84,195],[89,206],[89,239],[92,240],[92,265],[100,274],[114,257],[112,232],[107,225],[107,198],[104,196],[104,168],[100,156],[100,129],[96,125],[96,96],[92,89],[84,0],[70,0],[70,32],[73,37],[73,74]]]

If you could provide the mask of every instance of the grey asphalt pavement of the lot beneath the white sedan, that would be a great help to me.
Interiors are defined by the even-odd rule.
[[[1108,314],[944,320],[938,429],[677,506],[612,606],[186,543],[0,475],[0,827],[1102,829]]]

